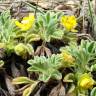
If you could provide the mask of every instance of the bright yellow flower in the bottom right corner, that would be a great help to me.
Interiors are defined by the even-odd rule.
[[[80,80],[78,81],[78,85],[83,89],[89,89],[94,85],[94,80],[89,74],[85,73],[81,75]]]

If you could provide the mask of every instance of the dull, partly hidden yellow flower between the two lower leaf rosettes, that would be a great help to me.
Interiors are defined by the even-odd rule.
[[[61,53],[61,59],[66,63],[74,63],[75,59],[67,51]]]

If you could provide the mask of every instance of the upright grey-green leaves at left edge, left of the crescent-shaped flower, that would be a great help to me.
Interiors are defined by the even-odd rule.
[[[10,42],[16,35],[15,32],[15,24],[11,19],[10,11],[2,12],[0,15],[0,41]]]

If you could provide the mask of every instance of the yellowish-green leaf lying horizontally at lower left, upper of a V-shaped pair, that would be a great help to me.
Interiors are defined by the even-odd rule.
[[[15,78],[15,79],[12,80],[12,83],[13,84],[32,84],[34,82],[35,81],[30,80],[27,77],[17,77],[17,78]]]

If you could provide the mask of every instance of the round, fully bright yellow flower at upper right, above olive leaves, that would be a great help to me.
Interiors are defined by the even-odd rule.
[[[77,30],[75,30],[75,27],[77,26],[75,16],[62,16],[60,22],[67,31],[77,32]]]

